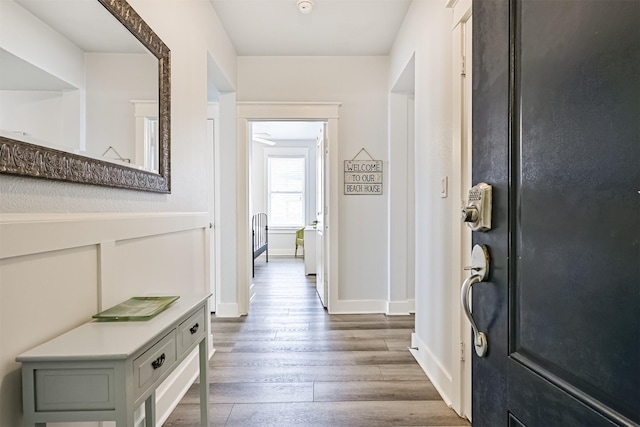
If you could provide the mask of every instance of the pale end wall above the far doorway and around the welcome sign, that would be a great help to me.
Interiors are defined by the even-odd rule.
[[[388,167],[388,66],[387,57],[239,57],[238,101],[341,102],[339,162],[364,147]],[[384,312],[388,194],[339,199],[339,310]]]

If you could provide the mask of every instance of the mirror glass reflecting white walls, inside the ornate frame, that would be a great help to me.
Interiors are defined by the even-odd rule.
[[[97,0],[0,7],[0,136],[157,172],[158,59]]]

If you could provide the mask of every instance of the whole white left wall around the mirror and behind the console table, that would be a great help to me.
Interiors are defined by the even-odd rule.
[[[207,1],[130,4],[171,49],[172,192],[0,174],[1,427],[21,424],[19,365],[14,361],[19,352],[133,293],[209,288],[209,218],[199,214],[209,206],[207,55],[228,79],[229,89],[236,84],[235,52]],[[221,139],[225,147],[235,147],[235,131]],[[235,180],[235,168],[232,176]],[[222,229],[224,221],[232,219],[221,217],[217,223]],[[24,245],[28,247],[18,251]],[[192,376],[187,372],[172,390],[181,390],[179,380],[185,378]],[[171,403],[177,399],[175,390],[164,396]],[[158,405],[160,411],[169,407],[168,402]]]

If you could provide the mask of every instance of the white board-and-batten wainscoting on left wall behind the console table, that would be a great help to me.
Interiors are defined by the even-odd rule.
[[[209,222],[200,212],[0,215],[0,425],[22,422],[18,354],[132,296],[208,292]],[[197,356],[157,390],[159,424],[196,379]],[[143,417],[139,408],[136,425]]]

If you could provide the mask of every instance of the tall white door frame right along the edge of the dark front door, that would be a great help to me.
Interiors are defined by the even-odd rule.
[[[443,191],[447,192],[451,217],[460,216],[463,195],[471,179],[471,37],[467,34],[467,23],[472,16],[472,0],[450,0],[447,7],[453,9],[452,22],[452,175],[450,182],[443,182]],[[465,46],[468,47],[465,52]],[[467,57],[466,60],[463,57]],[[466,62],[466,63],[465,63]],[[462,74],[465,73],[465,76]],[[447,188],[448,187],[448,188]],[[462,200],[461,200],[462,199]],[[460,288],[468,273],[464,270],[471,255],[471,231],[465,234],[463,225],[451,228],[451,271],[455,283],[451,286],[452,330],[457,339],[452,340],[451,354],[456,360],[452,363],[451,406],[460,415],[471,420],[471,327],[464,317],[460,306]]]

